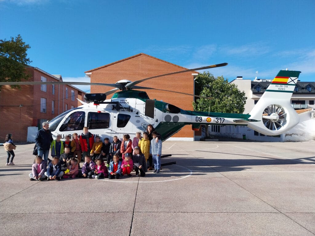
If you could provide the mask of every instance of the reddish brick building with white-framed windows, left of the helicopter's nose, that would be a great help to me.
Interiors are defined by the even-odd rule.
[[[32,66],[26,70],[28,81],[62,81],[61,75]],[[0,140],[12,133],[14,141],[26,142],[27,127],[38,126],[46,120],[81,105],[84,92],[71,85],[22,85],[20,89],[2,86],[0,92]]]

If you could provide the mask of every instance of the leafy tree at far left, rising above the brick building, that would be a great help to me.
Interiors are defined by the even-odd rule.
[[[0,82],[20,82],[30,77],[25,70],[25,66],[31,63],[26,53],[29,48],[20,35],[11,37],[11,40],[0,40]]]

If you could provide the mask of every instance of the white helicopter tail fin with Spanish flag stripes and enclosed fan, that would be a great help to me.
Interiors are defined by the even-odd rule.
[[[290,98],[301,71],[280,70],[261,96],[253,110],[248,126],[266,135],[281,134],[299,123],[299,116],[292,108]]]

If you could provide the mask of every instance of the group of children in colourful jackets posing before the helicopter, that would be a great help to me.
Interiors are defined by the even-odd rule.
[[[58,135],[51,143],[53,158],[48,167],[47,162],[40,156],[36,156],[32,173],[29,174],[30,180],[61,180],[61,178],[75,177],[118,179],[124,175],[132,177],[133,170],[136,176],[144,177],[148,170],[152,170],[152,160],[153,172],[158,174],[161,170],[162,141],[153,127],[148,130],[151,131],[144,132],[142,137],[141,133],[137,132],[133,141],[128,134],[123,135],[123,141],[114,136],[112,143],[108,138],[105,138],[103,143],[101,137],[95,137],[95,142],[90,145],[90,149],[88,147],[87,151],[83,151],[84,163],[81,170],[79,165],[83,149],[81,149],[82,142],[78,139],[78,135],[75,133],[72,141],[67,136],[65,142],[61,141],[61,136]],[[80,155],[77,155],[78,152]],[[148,160],[149,168],[147,167]]]

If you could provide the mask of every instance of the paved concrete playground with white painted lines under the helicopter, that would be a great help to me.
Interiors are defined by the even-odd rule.
[[[315,142],[164,142],[177,165],[120,180],[29,181],[0,149],[0,235],[314,235]]]

